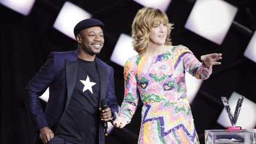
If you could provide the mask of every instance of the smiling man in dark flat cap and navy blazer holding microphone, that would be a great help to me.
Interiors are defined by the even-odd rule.
[[[24,89],[28,116],[43,143],[104,143],[104,123],[118,113],[113,68],[95,57],[104,24],[94,18],[74,28],[78,50],[52,52]],[[39,96],[49,87],[43,111]],[[101,101],[108,107],[102,110]]]

